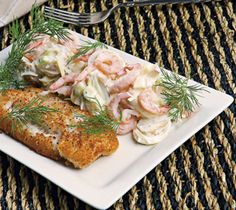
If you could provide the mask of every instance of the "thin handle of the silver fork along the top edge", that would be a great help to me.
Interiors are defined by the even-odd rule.
[[[148,6],[148,5],[163,5],[163,4],[185,4],[185,3],[199,3],[207,0],[134,0],[130,2],[121,3],[119,6],[134,7],[134,6]],[[208,0],[209,1],[209,0]]]

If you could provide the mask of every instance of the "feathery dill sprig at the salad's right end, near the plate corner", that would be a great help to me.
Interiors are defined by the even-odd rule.
[[[162,78],[157,85],[163,88],[161,94],[170,107],[169,117],[177,121],[200,105],[197,96],[200,96],[199,92],[206,89],[201,85],[188,85],[188,79],[181,78],[176,73],[169,74],[164,70],[161,70],[161,73]]]

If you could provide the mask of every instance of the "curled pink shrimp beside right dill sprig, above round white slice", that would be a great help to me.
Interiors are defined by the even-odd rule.
[[[152,114],[164,114],[169,110],[168,106],[158,106],[155,103],[156,94],[152,89],[146,89],[138,96],[139,105],[147,112]]]

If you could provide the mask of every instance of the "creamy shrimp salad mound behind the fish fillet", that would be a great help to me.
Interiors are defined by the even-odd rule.
[[[83,43],[75,32],[69,33],[69,40],[44,35],[30,44],[22,59],[22,77],[91,114],[106,107],[119,121],[119,135],[132,132],[141,144],[165,138],[172,121],[163,88],[158,86],[162,75],[158,65],[128,64],[104,47],[80,53],[85,49]]]

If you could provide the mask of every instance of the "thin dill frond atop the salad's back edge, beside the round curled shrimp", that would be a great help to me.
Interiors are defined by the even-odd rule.
[[[84,42],[86,44],[82,45],[78,49],[78,53],[76,53],[69,59],[68,64],[74,59],[79,58],[80,56],[83,56],[92,50],[96,50],[97,48],[107,48],[107,46],[104,43],[99,42],[99,41],[96,41],[96,42],[84,41]]]

